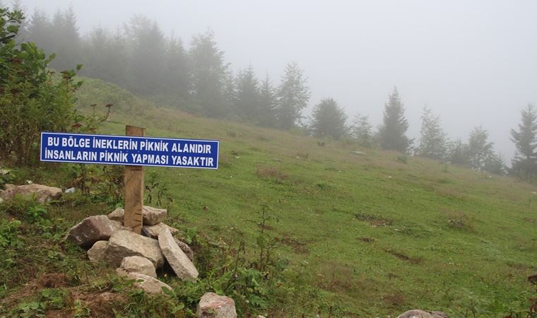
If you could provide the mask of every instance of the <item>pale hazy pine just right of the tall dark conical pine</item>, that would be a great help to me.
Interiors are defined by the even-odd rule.
[[[420,129],[420,145],[417,153],[423,157],[443,159],[446,155],[446,134],[440,126],[440,117],[432,114],[429,107],[423,107]]]

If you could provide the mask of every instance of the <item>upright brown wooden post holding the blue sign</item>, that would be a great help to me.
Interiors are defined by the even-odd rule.
[[[125,127],[126,136],[143,137],[146,129],[134,126]],[[124,225],[138,234],[142,233],[143,206],[143,167],[141,165],[125,166],[125,218]]]

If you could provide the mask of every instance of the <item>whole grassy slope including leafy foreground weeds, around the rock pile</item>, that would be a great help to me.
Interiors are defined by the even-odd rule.
[[[130,124],[147,136],[220,140],[218,170],[146,167],[153,204],[161,199],[167,223],[192,245],[201,279],[169,276],[173,295],[149,298],[64,242],[72,225],[114,208],[96,188],[47,206],[18,199],[0,204],[0,317],[189,317],[207,291],[230,295],[244,317],[394,317],[413,308],[515,317],[529,307],[527,277],[537,270],[530,184],[196,117],[93,79],[78,98],[81,112],[114,104],[100,134]],[[7,181],[67,189],[73,166],[12,168]]]

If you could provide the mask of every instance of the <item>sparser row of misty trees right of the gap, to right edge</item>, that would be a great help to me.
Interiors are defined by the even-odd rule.
[[[321,100],[314,107],[309,131],[319,138],[352,138],[361,146],[379,147],[386,150],[413,153],[426,158],[468,165],[475,170],[504,175],[509,172],[524,178],[537,175],[537,110],[528,105],[521,110],[521,123],[512,129],[511,139],[517,148],[512,159],[512,168],[507,170],[502,155],[494,150],[489,134],[482,126],[476,126],[465,143],[461,139],[452,141],[442,129],[440,117],[429,107],[423,108],[420,139],[413,146],[413,139],[406,136],[408,121],[401,96],[395,88],[384,105],[384,117],[376,131],[367,116],[357,115],[350,126],[348,116],[332,98]]]

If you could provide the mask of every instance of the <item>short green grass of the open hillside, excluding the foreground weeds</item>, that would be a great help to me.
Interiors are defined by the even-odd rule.
[[[536,187],[352,143],[195,117],[155,107],[100,81],[88,80],[79,94],[82,111],[93,102],[114,103],[100,133],[123,134],[131,124],[146,127],[148,136],[220,140],[218,170],[149,167],[146,176],[167,184],[172,201],[164,204],[185,233],[231,245],[242,232],[252,257],[259,227],[251,220],[259,219],[264,206],[275,217],[265,227],[278,242],[275,258],[287,261],[294,286],[308,286],[308,294],[282,300],[288,304],[284,309],[247,314],[394,317],[423,308],[453,317],[465,312],[502,317],[526,306],[531,292],[526,277],[537,270]],[[50,178],[49,183],[69,186],[69,179],[48,172],[17,173],[20,180]],[[66,200],[75,206],[74,199]],[[110,209],[90,202],[80,206],[76,213],[65,204],[56,207],[64,225],[52,238],[55,245],[77,218]],[[64,249],[62,259],[37,259],[45,264],[33,271],[63,271],[60,263],[72,258],[66,266],[78,274],[84,269],[96,281],[105,273],[113,276],[105,266],[87,269],[83,250]],[[6,287],[4,310],[20,305],[11,298],[23,289]],[[310,296],[317,307],[307,302]]]

